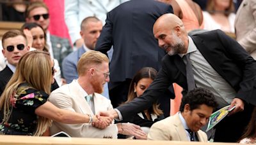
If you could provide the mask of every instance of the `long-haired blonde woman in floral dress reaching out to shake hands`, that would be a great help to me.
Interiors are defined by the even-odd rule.
[[[47,101],[54,81],[53,61],[49,53],[32,51],[19,61],[16,71],[0,98],[0,134],[42,135],[51,120],[61,123],[92,123],[102,127],[109,118],[97,118],[58,107]]]

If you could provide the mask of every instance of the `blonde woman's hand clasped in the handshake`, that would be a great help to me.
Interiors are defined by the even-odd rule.
[[[97,119],[93,120],[92,126],[100,129],[104,129],[108,127],[111,123],[112,120],[108,116],[96,116]]]

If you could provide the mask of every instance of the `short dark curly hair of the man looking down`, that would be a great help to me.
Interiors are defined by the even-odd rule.
[[[183,93],[184,92],[182,92],[182,94]],[[183,95],[180,104],[180,112],[184,111],[184,106],[186,104],[189,104],[189,109],[191,111],[197,109],[202,104],[212,107],[213,109],[218,106],[214,95],[205,88],[195,88],[186,93],[186,95]]]

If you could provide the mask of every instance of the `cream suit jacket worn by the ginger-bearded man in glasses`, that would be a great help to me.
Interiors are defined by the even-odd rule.
[[[60,88],[54,90],[49,101],[55,106],[61,109],[67,109],[68,111],[81,113],[81,114],[92,114],[93,111],[89,104],[84,99],[84,93],[79,89],[77,85],[77,80],[72,81],[72,83],[63,85]],[[95,93],[93,97],[95,114],[99,111],[108,111],[113,109],[110,100],[106,99],[99,93]],[[99,128],[92,127],[92,124],[82,123],[82,124],[65,124],[53,121],[51,127],[51,134],[56,134],[57,132],[64,131],[67,132],[71,137],[93,137],[93,138],[117,138],[117,127],[114,124],[109,125],[109,127],[101,130]]]

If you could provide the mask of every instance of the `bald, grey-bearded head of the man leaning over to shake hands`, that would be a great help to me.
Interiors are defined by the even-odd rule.
[[[159,47],[168,55],[187,52],[188,34],[182,20],[176,15],[168,13],[159,17],[154,24],[153,32]]]

